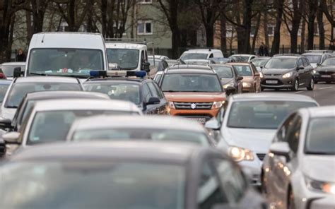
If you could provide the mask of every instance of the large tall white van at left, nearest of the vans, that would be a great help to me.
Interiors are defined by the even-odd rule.
[[[40,32],[30,40],[24,76],[90,76],[107,71],[105,41],[101,34]],[[16,69],[16,76],[20,76]]]

